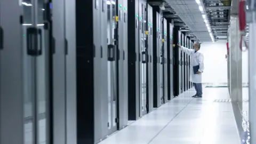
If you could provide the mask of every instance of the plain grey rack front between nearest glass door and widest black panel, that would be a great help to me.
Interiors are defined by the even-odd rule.
[[[50,45],[50,83],[52,83],[50,126],[52,137],[54,135],[51,138],[52,143],[77,142],[77,101],[74,97],[76,95],[75,9],[73,1],[53,1],[52,3],[49,1],[44,6],[44,25],[49,29]],[[67,140],[66,137],[71,139]]]

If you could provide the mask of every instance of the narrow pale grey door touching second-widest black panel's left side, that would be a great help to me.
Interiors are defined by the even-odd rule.
[[[112,1],[114,2],[114,1]],[[118,11],[118,130],[123,129],[128,123],[128,38],[127,38],[127,0],[116,1]],[[118,6],[117,6],[118,5]]]

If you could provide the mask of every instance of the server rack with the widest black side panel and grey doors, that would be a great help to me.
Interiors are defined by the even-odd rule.
[[[127,1],[75,6],[77,143],[97,143],[127,125]]]

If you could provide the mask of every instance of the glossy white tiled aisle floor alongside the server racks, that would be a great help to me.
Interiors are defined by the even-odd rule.
[[[204,88],[204,98],[189,90],[100,144],[238,144],[227,88]]]

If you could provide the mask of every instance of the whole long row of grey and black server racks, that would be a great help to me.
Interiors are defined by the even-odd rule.
[[[158,8],[0,0],[1,142],[98,143],[193,87],[193,41]]]

